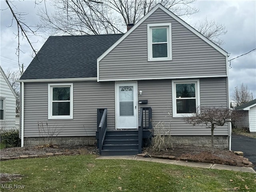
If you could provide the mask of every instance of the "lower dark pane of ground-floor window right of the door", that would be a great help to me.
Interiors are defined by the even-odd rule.
[[[177,99],[177,113],[195,113],[196,99]]]

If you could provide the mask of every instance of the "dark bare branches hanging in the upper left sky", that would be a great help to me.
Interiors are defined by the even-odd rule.
[[[34,3],[36,4],[40,4],[43,0],[35,0]],[[20,73],[22,73],[22,68],[20,66],[20,52],[22,52],[21,47],[20,47],[20,42],[22,39],[26,39],[28,41],[28,44],[30,45],[30,47],[33,50],[33,53],[36,56],[37,51],[34,49],[34,47],[32,46],[32,41],[30,40],[30,38],[32,36],[37,35],[37,31],[40,28],[40,26],[30,26],[28,24],[26,24],[25,22],[25,16],[28,13],[25,12],[19,12],[16,5],[13,4],[14,1],[10,1],[10,0],[5,0],[8,8],[10,9],[10,11],[12,12],[12,22],[10,24],[10,26],[8,27],[12,27],[14,23],[16,23],[17,26],[17,33],[16,38],[18,38],[18,46],[16,49],[16,55],[18,56],[18,65],[19,65],[19,69],[20,69]],[[24,52],[22,52],[24,53]]]

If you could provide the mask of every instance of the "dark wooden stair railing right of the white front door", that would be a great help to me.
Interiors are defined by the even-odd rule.
[[[138,140],[139,140],[139,153],[142,152],[143,145],[143,129],[152,128],[152,110],[151,107],[141,107],[140,117],[138,124]]]

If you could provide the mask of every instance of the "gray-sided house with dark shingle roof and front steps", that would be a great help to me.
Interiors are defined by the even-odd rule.
[[[174,144],[210,146],[210,129],[184,116],[229,106],[228,53],[161,4],[125,34],[50,36],[21,82],[22,146],[38,123],[58,144],[97,144],[101,154],[136,154],[158,122]],[[214,131],[230,147],[230,126]]]

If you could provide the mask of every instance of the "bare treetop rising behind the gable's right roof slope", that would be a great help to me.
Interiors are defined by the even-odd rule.
[[[224,44],[224,41],[220,38],[221,35],[227,33],[226,27],[223,24],[206,18],[203,22],[199,21],[199,24],[194,27],[215,44],[219,46]]]

